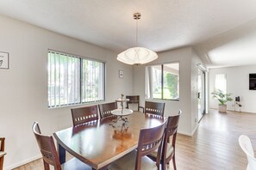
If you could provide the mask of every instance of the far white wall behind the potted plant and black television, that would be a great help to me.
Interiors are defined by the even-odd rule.
[[[209,93],[214,91],[215,75],[227,74],[227,92],[232,93],[233,101],[228,102],[228,110],[234,110],[234,97],[240,96],[241,111],[256,113],[256,91],[249,90],[249,74],[256,73],[256,65],[228,67],[209,70]],[[218,102],[209,95],[209,107],[217,108]],[[236,111],[239,107],[236,106]]]

